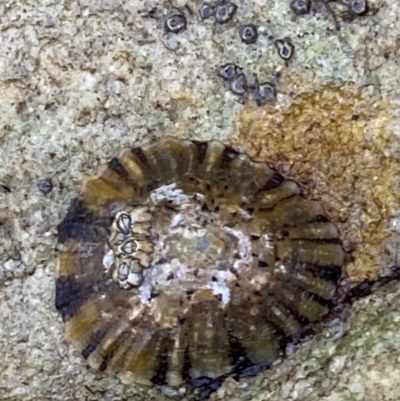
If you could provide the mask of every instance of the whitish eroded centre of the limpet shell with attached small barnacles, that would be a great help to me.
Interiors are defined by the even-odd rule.
[[[230,287],[238,274],[248,271],[252,275],[252,245],[248,235],[239,228],[220,223],[217,213],[202,211],[203,200],[202,194],[189,196],[171,184],[152,191],[145,206],[117,213],[110,237],[111,244],[118,245],[114,248],[118,250],[114,280],[124,289],[138,287],[140,299],[149,306],[155,304],[153,294],[170,294],[182,300],[189,293],[209,290],[220,299],[222,306],[227,305]],[[168,213],[163,207],[166,202]],[[251,219],[240,208],[234,212],[245,220]],[[143,234],[134,232],[133,228],[138,223],[148,224],[147,240],[154,241],[145,253],[153,261],[151,268],[140,271],[129,269],[127,263],[129,260],[132,264],[128,258],[140,247]],[[129,234],[124,234],[128,228]],[[107,263],[109,260],[110,257]],[[146,263],[139,265],[147,267]]]

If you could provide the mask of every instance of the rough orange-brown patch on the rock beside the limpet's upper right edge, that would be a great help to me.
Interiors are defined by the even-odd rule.
[[[352,84],[322,87],[295,95],[285,110],[245,107],[232,139],[255,160],[305,184],[308,196],[324,205],[350,251],[352,281],[376,278],[400,200],[388,110]]]

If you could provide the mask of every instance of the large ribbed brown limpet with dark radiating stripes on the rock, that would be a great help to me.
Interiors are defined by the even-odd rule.
[[[328,312],[344,258],[319,203],[218,141],[124,151],[58,231],[66,339],[125,383],[175,389],[269,366]]]

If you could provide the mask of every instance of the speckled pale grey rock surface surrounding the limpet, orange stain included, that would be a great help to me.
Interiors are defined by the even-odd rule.
[[[56,226],[82,177],[132,144],[231,144],[328,205],[355,255],[352,281],[400,265],[400,3],[370,0],[353,21],[342,21],[340,2],[316,1],[303,16],[289,3],[237,1],[222,25],[201,20],[198,1],[0,3],[0,400],[168,399],[90,371],[54,309]],[[187,29],[165,33],[176,10]],[[259,35],[246,45],[238,27],[248,23]],[[287,62],[274,46],[285,37],[295,46]],[[217,74],[229,62],[272,82],[276,101],[258,107],[231,93]],[[392,283],[211,399],[397,401],[399,310]]]

